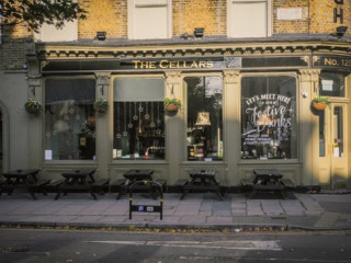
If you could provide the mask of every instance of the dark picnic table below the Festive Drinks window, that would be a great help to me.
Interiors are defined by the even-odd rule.
[[[295,188],[295,183],[291,179],[283,179],[278,169],[254,169],[254,179],[242,179],[241,185],[249,191],[248,197],[252,198],[258,193],[278,193],[284,198],[286,191]]]

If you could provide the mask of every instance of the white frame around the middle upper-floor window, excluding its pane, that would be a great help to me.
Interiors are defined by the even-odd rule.
[[[167,7],[167,38],[172,37],[172,0],[166,0],[167,3],[160,3],[157,0],[144,1],[145,3],[136,4],[136,0],[128,0],[128,38],[129,39],[144,39],[137,38],[135,34],[135,9],[136,8],[152,8],[152,7]],[[161,38],[161,37],[160,37]]]

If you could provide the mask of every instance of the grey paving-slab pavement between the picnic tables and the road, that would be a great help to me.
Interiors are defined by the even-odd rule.
[[[163,196],[163,218],[159,213],[132,214],[127,196],[69,193],[55,201],[55,194],[14,192],[0,198],[0,225],[23,227],[79,228],[182,228],[233,231],[261,228],[282,230],[350,230],[351,193],[295,193],[290,199],[248,199],[245,194],[226,194],[219,201],[213,193],[179,193]],[[145,194],[133,195],[134,205],[157,206]],[[147,209],[147,208],[146,208]]]

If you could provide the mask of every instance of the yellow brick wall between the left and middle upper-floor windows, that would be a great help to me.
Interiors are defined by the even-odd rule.
[[[78,23],[79,38],[93,38],[98,31],[106,37],[127,37],[127,0],[81,0],[87,20]]]

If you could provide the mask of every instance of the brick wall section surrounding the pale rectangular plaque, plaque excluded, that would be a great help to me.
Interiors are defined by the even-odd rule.
[[[302,19],[278,19],[280,9],[301,9]],[[273,2],[273,34],[308,33],[308,0],[274,0]]]

